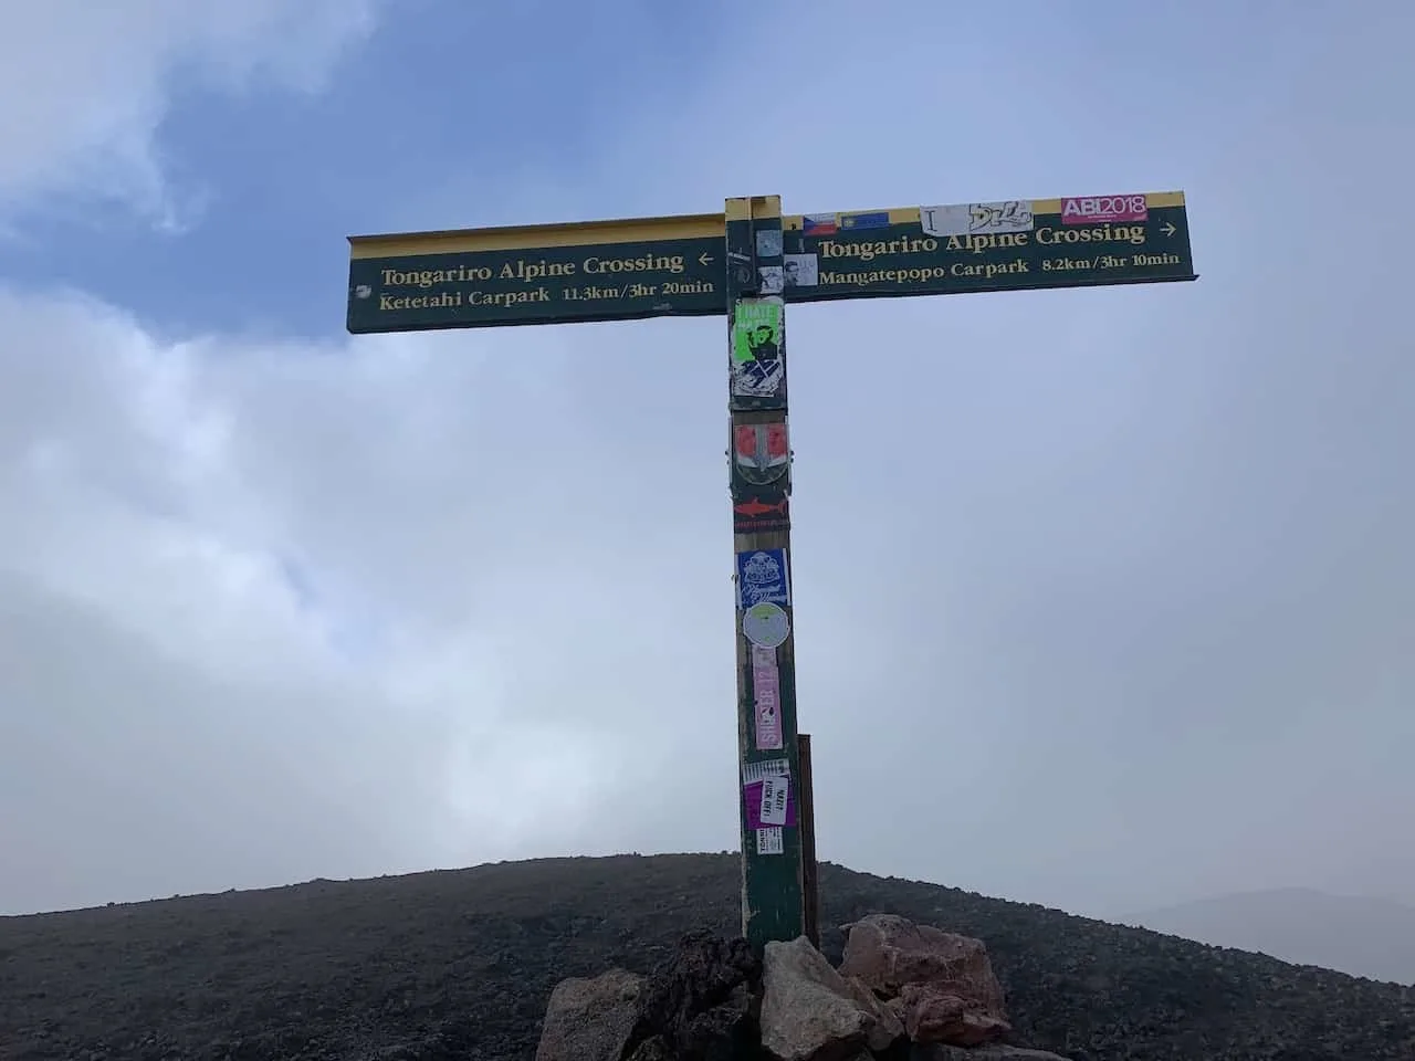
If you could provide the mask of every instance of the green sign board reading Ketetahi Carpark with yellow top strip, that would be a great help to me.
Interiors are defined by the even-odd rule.
[[[350,239],[348,330],[726,311],[720,214]]]

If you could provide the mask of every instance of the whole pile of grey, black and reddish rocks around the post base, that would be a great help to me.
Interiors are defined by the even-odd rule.
[[[556,985],[536,1061],[1065,1061],[1013,1045],[982,942],[873,914],[836,970],[805,937],[682,937],[651,976]]]

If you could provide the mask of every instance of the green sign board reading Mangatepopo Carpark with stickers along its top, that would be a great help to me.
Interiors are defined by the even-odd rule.
[[[1182,192],[785,219],[788,301],[1193,280]]]

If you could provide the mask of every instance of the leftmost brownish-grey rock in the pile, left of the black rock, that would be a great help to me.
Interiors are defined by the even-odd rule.
[[[610,969],[550,992],[536,1061],[620,1061],[638,1017],[644,978]]]

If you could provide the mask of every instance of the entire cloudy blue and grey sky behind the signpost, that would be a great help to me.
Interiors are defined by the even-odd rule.
[[[351,338],[345,236],[1169,190],[791,311],[819,854],[1415,901],[1411,4],[0,20],[0,912],[736,847],[723,321]]]

